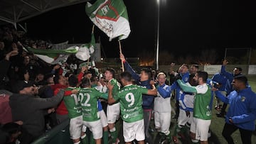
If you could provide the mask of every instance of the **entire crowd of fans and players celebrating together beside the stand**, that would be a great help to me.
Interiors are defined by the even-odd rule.
[[[136,72],[120,53],[124,72],[116,74],[111,67],[102,71],[84,65],[73,55],[50,65],[24,50],[48,50],[51,45],[28,38],[14,26],[1,27],[0,143],[31,143],[66,120],[75,144],[122,143],[115,125],[119,118],[125,143],[154,143],[151,130],[159,133],[160,142],[179,143],[189,131],[191,143],[208,143],[214,107],[218,117],[225,118],[222,134],[228,143],[234,143],[231,135],[237,129],[242,143],[251,143],[256,94],[240,67],[225,70],[227,60],[220,72],[209,77],[198,65],[183,64],[173,70],[174,63],[169,72],[149,68]],[[171,99],[176,100],[174,108]],[[177,121],[174,133],[171,118]]]

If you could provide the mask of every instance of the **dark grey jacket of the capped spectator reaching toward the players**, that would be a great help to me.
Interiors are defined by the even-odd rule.
[[[13,121],[23,121],[23,128],[33,135],[33,138],[38,138],[44,133],[46,110],[57,106],[63,99],[63,95],[64,90],[60,90],[56,96],[48,99],[26,94],[13,94],[9,101]]]

